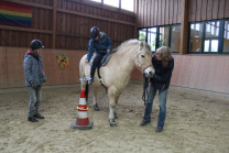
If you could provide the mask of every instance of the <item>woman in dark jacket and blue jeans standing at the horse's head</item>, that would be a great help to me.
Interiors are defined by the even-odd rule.
[[[152,57],[152,64],[155,69],[155,74],[150,79],[151,84],[149,90],[149,100],[146,102],[143,121],[140,125],[145,125],[151,122],[153,100],[156,91],[159,90],[160,113],[156,132],[162,132],[166,117],[167,91],[174,67],[174,59],[171,55],[171,48],[166,46],[157,48],[156,53]]]

